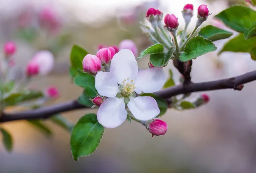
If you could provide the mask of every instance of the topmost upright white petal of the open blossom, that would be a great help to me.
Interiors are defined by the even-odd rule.
[[[135,79],[138,74],[138,63],[134,54],[128,49],[122,49],[113,56],[110,64],[110,72],[116,77],[119,84],[124,79]]]

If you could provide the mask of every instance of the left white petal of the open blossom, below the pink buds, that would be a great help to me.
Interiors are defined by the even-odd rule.
[[[102,96],[115,97],[119,92],[116,78],[110,72],[99,71],[95,77],[95,88]]]

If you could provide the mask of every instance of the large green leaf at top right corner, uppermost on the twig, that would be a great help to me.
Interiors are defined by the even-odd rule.
[[[256,11],[247,6],[231,6],[215,17],[226,26],[242,33],[256,26]]]

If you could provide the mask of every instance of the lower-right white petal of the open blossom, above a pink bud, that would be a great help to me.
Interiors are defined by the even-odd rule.
[[[152,119],[160,113],[157,101],[151,96],[130,97],[127,106],[135,118],[140,120]]]

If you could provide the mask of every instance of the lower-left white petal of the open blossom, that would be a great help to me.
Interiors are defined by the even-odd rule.
[[[105,128],[116,128],[126,117],[124,99],[117,97],[105,99],[97,112],[97,119]]]

